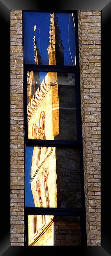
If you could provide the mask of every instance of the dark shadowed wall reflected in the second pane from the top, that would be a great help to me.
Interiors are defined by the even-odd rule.
[[[75,78],[72,73],[58,73],[59,134],[55,140],[76,140]]]

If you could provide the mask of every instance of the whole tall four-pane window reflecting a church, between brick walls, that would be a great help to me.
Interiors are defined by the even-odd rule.
[[[86,245],[77,11],[23,11],[25,243]]]

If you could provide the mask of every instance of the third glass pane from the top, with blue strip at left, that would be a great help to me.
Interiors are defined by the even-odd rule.
[[[79,150],[26,147],[25,206],[81,208]]]

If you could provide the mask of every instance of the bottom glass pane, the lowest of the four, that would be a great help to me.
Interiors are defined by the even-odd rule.
[[[28,216],[29,246],[81,246],[80,217]]]

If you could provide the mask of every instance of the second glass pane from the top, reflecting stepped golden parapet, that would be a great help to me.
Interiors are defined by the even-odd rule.
[[[28,139],[76,140],[75,75],[27,71]]]

